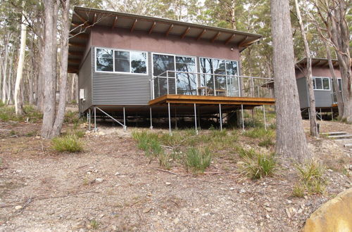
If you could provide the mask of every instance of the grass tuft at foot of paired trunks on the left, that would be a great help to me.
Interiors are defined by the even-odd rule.
[[[83,150],[83,144],[75,134],[67,134],[63,137],[52,139],[53,148],[58,152],[77,153]]]

